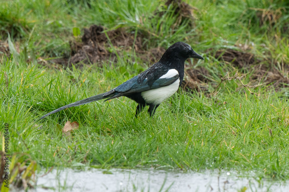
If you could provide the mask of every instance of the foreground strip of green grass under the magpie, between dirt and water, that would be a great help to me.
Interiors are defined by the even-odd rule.
[[[161,104],[154,118],[145,111],[135,119],[136,104],[119,98],[69,108],[34,122],[52,109],[105,92],[133,76],[119,75],[119,68],[92,65],[84,71],[48,73],[43,67],[20,67],[9,61],[1,65],[10,81],[1,95],[1,103],[7,103],[1,106],[1,119],[9,123],[13,138],[10,151],[27,153],[47,168],[77,162],[100,168],[234,168],[288,178],[287,100],[262,90],[259,97],[244,88],[237,90],[234,80],[212,97],[180,91]],[[80,124],[71,140],[58,126],[67,120]]]

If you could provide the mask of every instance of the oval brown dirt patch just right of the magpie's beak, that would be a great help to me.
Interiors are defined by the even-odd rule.
[[[215,58],[232,63],[235,67],[242,68],[260,62],[254,54],[234,49],[221,49],[215,54]]]

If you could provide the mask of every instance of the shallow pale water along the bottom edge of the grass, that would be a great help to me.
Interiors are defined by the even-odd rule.
[[[181,172],[139,169],[53,170],[29,191],[247,191],[288,192],[289,182],[272,182],[219,171]],[[50,189],[45,189],[49,187]],[[52,188],[51,188],[52,187]]]

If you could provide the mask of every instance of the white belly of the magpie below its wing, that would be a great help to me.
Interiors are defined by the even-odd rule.
[[[158,105],[163,102],[165,99],[172,96],[179,88],[180,79],[178,78],[175,82],[171,85],[152,89],[149,91],[144,91],[141,93],[142,97],[144,98],[145,102],[149,104]]]

